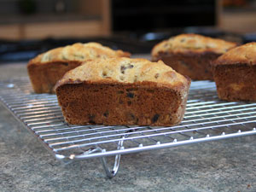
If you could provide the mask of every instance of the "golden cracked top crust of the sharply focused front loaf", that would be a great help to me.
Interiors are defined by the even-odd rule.
[[[151,62],[146,59],[130,59],[125,57],[97,59],[86,61],[80,67],[67,72],[56,84],[90,83],[126,83],[155,82],[158,86],[187,86],[190,80],[177,73],[163,61]]]

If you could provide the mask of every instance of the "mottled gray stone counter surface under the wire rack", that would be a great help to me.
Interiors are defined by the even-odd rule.
[[[26,76],[0,65],[0,80]],[[256,191],[256,136],[166,148],[121,158],[108,179],[98,159],[61,165],[0,105],[0,191]]]

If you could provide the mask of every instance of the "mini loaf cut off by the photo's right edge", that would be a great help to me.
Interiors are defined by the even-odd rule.
[[[256,43],[244,44],[213,63],[218,97],[227,101],[256,101]]]

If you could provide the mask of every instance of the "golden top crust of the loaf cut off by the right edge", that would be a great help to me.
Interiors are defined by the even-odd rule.
[[[218,57],[214,65],[256,64],[256,43],[243,44]]]

